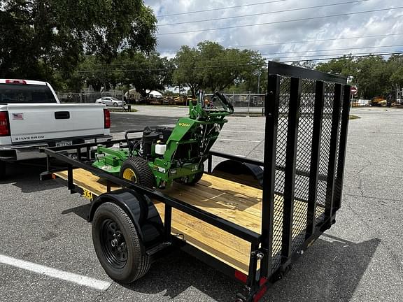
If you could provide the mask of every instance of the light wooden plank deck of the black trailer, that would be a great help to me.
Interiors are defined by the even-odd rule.
[[[67,180],[67,171],[58,172],[55,175]],[[89,171],[76,169],[73,172],[73,178],[75,185],[87,189],[95,196],[106,192],[106,182]],[[118,188],[111,187],[112,190]],[[261,231],[262,190],[260,189],[205,174],[195,186],[175,183],[171,189],[165,189],[163,192],[256,233]],[[275,200],[274,227],[281,225],[283,220],[282,211],[277,210],[282,208],[283,199],[281,196],[276,196]],[[164,203],[155,201],[155,206],[163,220]],[[306,210],[306,203],[295,201],[295,213],[300,212],[302,217],[306,217]],[[320,214],[322,213],[318,211],[317,215]],[[188,244],[248,274],[250,243],[245,240],[175,208],[172,209],[171,229],[175,236]],[[292,231],[293,236],[297,236],[301,231],[303,229],[295,227]],[[274,250],[273,254],[277,252],[279,251]]]

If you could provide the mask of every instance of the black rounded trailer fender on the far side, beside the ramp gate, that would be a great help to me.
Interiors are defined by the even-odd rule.
[[[215,166],[212,174],[243,185],[263,187],[263,169],[254,164],[228,159]]]

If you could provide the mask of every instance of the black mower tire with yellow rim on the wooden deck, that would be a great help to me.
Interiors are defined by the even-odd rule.
[[[126,159],[120,168],[120,178],[149,188],[154,187],[155,183],[155,177],[148,162],[141,157]]]

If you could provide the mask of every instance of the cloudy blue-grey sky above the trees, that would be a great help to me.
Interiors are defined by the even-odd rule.
[[[401,0],[144,2],[158,20],[157,51],[169,58],[181,45],[196,47],[206,40],[282,62],[403,51]]]

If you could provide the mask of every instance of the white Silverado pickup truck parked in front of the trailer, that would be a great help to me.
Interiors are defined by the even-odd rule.
[[[40,147],[111,138],[103,104],[62,104],[48,82],[0,79],[0,178],[5,161],[42,157]]]

